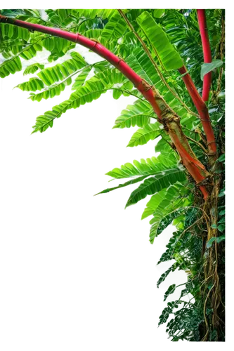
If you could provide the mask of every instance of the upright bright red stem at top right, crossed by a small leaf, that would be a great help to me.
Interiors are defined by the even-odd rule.
[[[203,55],[204,55],[204,63],[212,62],[212,51],[209,45],[209,35],[207,29],[207,21],[206,21],[206,14],[205,9],[197,6],[197,20],[200,29],[200,34],[202,38],[202,48],[203,48]],[[203,89],[202,89],[202,99],[204,101],[209,100],[209,90],[212,84],[212,72],[209,72],[204,75],[203,79]]]

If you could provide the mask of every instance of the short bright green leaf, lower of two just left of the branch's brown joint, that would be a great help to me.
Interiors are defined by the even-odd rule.
[[[150,141],[155,140],[160,131],[162,131],[163,126],[159,122],[153,124],[146,124],[143,128],[137,128],[129,138],[125,147],[128,149],[133,149],[134,147],[140,147],[147,145]]]

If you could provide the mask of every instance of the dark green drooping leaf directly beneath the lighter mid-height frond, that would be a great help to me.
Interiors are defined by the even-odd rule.
[[[124,208],[129,208],[142,201],[146,197],[160,192],[160,190],[169,187],[169,185],[177,181],[183,182],[186,180],[186,175],[181,168],[171,168],[165,171],[156,173],[155,176],[143,180],[143,182],[132,190],[129,197],[126,199]]]

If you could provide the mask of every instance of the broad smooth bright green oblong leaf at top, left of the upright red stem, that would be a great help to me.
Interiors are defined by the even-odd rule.
[[[147,11],[141,13],[136,19],[138,25],[140,25],[145,36],[148,38],[150,45],[155,49],[160,62],[164,69],[178,69],[183,66],[183,61],[174,48],[171,45],[167,34],[163,31],[160,25],[157,25],[155,20],[152,18],[150,13]]]

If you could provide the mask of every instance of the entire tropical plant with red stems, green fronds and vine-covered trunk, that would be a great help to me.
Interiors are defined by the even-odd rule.
[[[30,135],[108,92],[117,103],[133,98],[112,129],[131,129],[126,147],[152,142],[155,153],[110,168],[108,186],[94,196],[133,187],[124,208],[147,200],[141,220],[150,225],[148,242],[159,238],[164,246],[157,287],[165,289],[166,307],[158,325],[167,325],[171,342],[224,340],[224,9],[66,7],[46,14],[20,8],[0,15],[0,79],[22,72],[26,79],[14,88],[32,102],[70,91],[37,115]],[[50,55],[39,62],[44,49]]]

